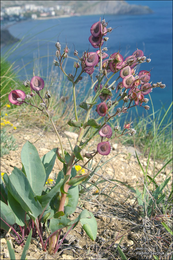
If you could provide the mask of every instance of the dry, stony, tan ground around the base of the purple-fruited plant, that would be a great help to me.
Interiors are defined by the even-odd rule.
[[[23,135],[16,132],[14,136],[18,143],[18,150],[10,151],[8,155],[1,157],[1,172],[7,172],[7,174],[12,172],[14,166],[21,168],[20,152],[26,140],[35,145],[40,157],[52,148],[60,148],[59,141],[54,133],[44,132],[37,128],[35,130],[27,129]],[[61,137],[65,149],[71,153],[68,138],[73,147],[77,134],[66,131],[61,133]],[[83,152],[89,151],[92,153],[96,151],[97,143],[91,140]],[[120,143],[111,143],[111,145],[113,149],[107,157],[101,155],[94,157],[90,168],[97,164],[101,167],[98,167],[98,171],[90,180],[91,184],[86,185],[85,188],[89,191],[86,190],[86,193],[80,196],[76,212],[71,216],[72,219],[75,218],[84,208],[93,212],[98,224],[96,241],[92,242],[78,224],[66,237],[61,250],[56,255],[49,256],[47,252],[42,251],[38,241],[32,240],[27,259],[121,259],[117,250],[117,245],[121,239],[120,247],[127,259],[154,259],[153,256],[136,255],[137,246],[148,247],[148,252],[167,252],[167,256],[160,259],[169,259],[170,251],[168,251],[168,248],[171,246],[171,242],[167,238],[168,244],[166,244],[163,241],[165,238],[161,239],[163,227],[160,226],[159,222],[157,228],[155,228],[154,220],[151,224],[147,218],[140,216],[141,209],[138,207],[135,194],[129,187],[136,188],[136,182],[138,182],[138,188],[142,189],[144,181],[144,175],[138,164],[134,148],[122,146]],[[138,150],[137,153],[145,170],[147,158],[142,157]],[[154,172],[156,174],[162,167],[163,164],[157,161],[154,168],[154,161],[151,159],[147,174],[153,177]],[[56,179],[61,168],[62,164],[57,160],[50,177]],[[161,184],[170,171],[171,168],[169,167],[164,172],[162,171],[157,176],[157,184]],[[20,259],[21,246],[14,242],[14,248],[16,259]],[[5,232],[1,231],[1,259],[3,258],[10,259]]]

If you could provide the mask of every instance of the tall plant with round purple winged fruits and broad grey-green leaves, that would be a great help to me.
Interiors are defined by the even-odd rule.
[[[11,227],[15,233],[15,235],[11,235],[21,245],[24,237],[32,228],[32,237],[38,233],[43,250],[48,249],[50,254],[57,252],[66,235],[78,222],[81,223],[87,235],[95,240],[97,222],[91,212],[85,209],[75,220],[69,219],[69,215],[74,213],[78,204],[78,185],[89,176],[89,172],[84,173],[82,170],[97,153],[108,155],[111,151],[110,142],[114,139],[127,133],[130,136],[136,133],[131,123],[125,122],[123,131],[117,134],[120,131],[117,124],[113,129],[114,138],[111,140],[112,129],[108,124],[109,120],[121,116],[122,113],[127,113],[134,106],[144,107],[148,110],[149,106],[146,105],[148,98],[145,95],[150,93],[153,88],[165,88],[165,84],[161,82],[151,86],[149,83],[150,71],[141,70],[138,74],[136,73],[139,64],[151,61],[149,57],[144,56],[142,50],[137,49],[125,59],[119,51],[108,57],[107,48],[102,45],[108,40],[106,35],[112,31],[112,28],[108,28],[108,23],[104,19],[94,23],[90,31],[89,41],[93,48],[98,50],[96,52],[84,51],[81,56],[78,55],[78,51],[74,51],[77,58],[74,62],[74,75],[67,75],[63,67],[69,48],[66,45],[61,51],[60,42],[55,44],[57,60],[53,60],[53,64],[62,70],[73,88],[75,119],[69,118],[68,125],[79,129],[78,138],[71,154],[64,150],[61,137],[52,120],[54,111],[49,108],[50,91],[46,91],[44,96],[40,94],[44,89],[44,80],[41,77],[34,75],[31,81],[23,82],[26,88],[30,88],[28,94],[18,89],[12,90],[9,94],[9,101],[12,104],[31,105],[49,118],[58,136],[61,153],[58,148],[55,148],[40,159],[33,144],[27,142],[23,146],[22,169],[15,167],[10,176],[4,174],[3,180],[6,187],[1,181],[1,227],[4,230]],[[96,73],[95,80],[93,72]],[[93,92],[93,96],[87,96],[85,101],[79,105],[86,112],[84,119],[80,118],[78,114],[75,96],[76,85],[82,80],[83,73],[90,75],[90,93]],[[115,75],[118,75],[116,79],[114,79]],[[115,82],[118,83],[116,87]],[[40,97],[39,105],[34,98],[35,95]],[[120,103],[121,105],[119,105]],[[90,116],[92,109],[97,112],[95,118]],[[92,131],[90,134],[91,128],[95,128],[95,132]],[[101,142],[97,145],[97,150],[93,154],[83,154],[82,149],[98,133],[101,136]],[[86,138],[86,136],[89,137]],[[88,159],[85,164],[83,163],[84,157]],[[63,169],[59,172],[54,186],[46,186],[56,158],[63,163]],[[82,166],[77,172],[76,164]],[[21,235],[15,231],[14,223],[20,226]],[[43,224],[48,234],[45,242],[43,241]],[[67,228],[67,231],[59,241],[61,230],[64,228]]]

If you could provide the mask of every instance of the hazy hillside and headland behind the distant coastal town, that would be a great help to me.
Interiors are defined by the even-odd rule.
[[[76,14],[80,15],[93,15],[93,14],[149,14],[152,10],[148,6],[142,5],[130,5],[126,1],[98,1],[98,0],[88,0],[88,1],[41,1],[41,0],[1,0],[1,9],[9,6],[24,6],[25,4],[35,4],[43,6],[56,6],[62,5],[64,7],[69,7]]]

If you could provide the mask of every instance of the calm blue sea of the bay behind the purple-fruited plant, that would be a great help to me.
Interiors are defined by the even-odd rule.
[[[148,5],[153,13],[147,15],[104,15],[108,27],[114,28],[107,36],[109,40],[103,47],[108,54],[120,51],[123,57],[132,55],[138,48],[151,58],[150,63],[141,64],[137,71],[151,70],[152,83],[162,81],[165,89],[155,88],[151,93],[155,111],[163,105],[167,109],[172,101],[172,1],[127,1],[130,4]],[[101,19],[103,16],[101,16]],[[17,45],[1,48],[1,54],[11,54],[7,60],[22,68],[18,75],[21,82],[31,79],[33,67],[38,64],[38,76],[46,78],[52,68],[53,57],[56,59],[55,43],[59,40],[61,49],[66,44],[70,49],[65,62],[66,73],[74,73],[74,48],[81,56],[84,51],[96,51],[89,43],[91,25],[99,21],[99,15],[72,16],[45,20],[27,20],[9,26],[10,33],[22,39]],[[16,48],[16,49],[15,49]],[[10,53],[10,52],[9,52]],[[59,70],[56,67],[57,71]],[[95,78],[95,75],[93,75]],[[115,80],[113,78],[110,82]],[[89,80],[89,78],[88,78]],[[90,83],[88,88],[90,87]],[[22,86],[22,85],[21,85]],[[55,86],[56,87],[56,86]],[[81,90],[82,91],[82,90]],[[145,96],[145,97],[148,97]],[[148,97],[149,98],[149,97]],[[148,102],[151,106],[151,101]],[[141,114],[144,109],[139,110]],[[140,112],[141,111],[141,112]]]

